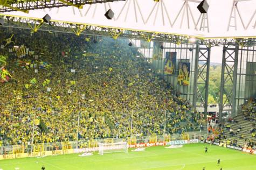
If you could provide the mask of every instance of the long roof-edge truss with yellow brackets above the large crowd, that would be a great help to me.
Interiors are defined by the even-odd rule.
[[[43,19],[33,19],[26,17],[4,17],[5,24],[3,27],[13,27],[19,29],[32,29],[34,32],[51,31],[51,32],[65,32],[75,33],[77,36],[81,34],[88,34],[92,36],[105,36],[117,39],[118,37],[140,39],[147,41],[167,41],[167,42],[188,42],[189,38],[184,36],[167,35],[160,33],[148,33],[141,31],[129,31],[122,29],[114,29],[111,27],[93,26],[87,24],[58,22],[51,20],[50,23],[43,23]]]

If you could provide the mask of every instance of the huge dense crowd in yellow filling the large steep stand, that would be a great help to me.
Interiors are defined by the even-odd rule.
[[[0,49],[12,76],[0,83],[0,145],[76,140],[78,119],[79,139],[128,137],[132,119],[136,136],[163,134],[165,111],[166,133],[199,130],[203,116],[126,40],[1,29],[0,44],[12,33]]]

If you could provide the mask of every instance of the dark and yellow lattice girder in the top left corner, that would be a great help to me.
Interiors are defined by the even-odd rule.
[[[3,7],[0,8],[0,12],[11,12],[11,11],[27,12],[29,10],[54,8],[54,7],[59,8],[62,6],[75,6],[81,9],[82,5],[85,5],[85,4],[96,4],[96,3],[106,3],[106,2],[115,2],[115,1],[126,1],[126,0],[39,0],[39,1],[2,0],[0,1],[0,5],[2,5]]]

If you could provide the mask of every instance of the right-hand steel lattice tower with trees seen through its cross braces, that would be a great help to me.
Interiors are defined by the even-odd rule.
[[[237,84],[237,64],[238,64],[238,49],[236,44],[233,48],[223,47],[222,59],[222,77],[220,82],[220,103],[219,114],[222,119],[223,111],[232,111],[232,116],[236,114],[236,84]],[[232,109],[230,109],[230,107]],[[229,108],[224,110],[224,108]]]

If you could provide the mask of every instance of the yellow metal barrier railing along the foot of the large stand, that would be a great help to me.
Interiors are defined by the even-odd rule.
[[[31,153],[43,151],[68,150],[74,148],[91,148],[98,147],[98,143],[115,143],[117,141],[127,141],[128,144],[141,143],[159,143],[163,141],[200,139],[205,137],[206,132],[189,132],[183,134],[165,134],[165,136],[134,136],[130,138],[106,138],[106,139],[84,139],[77,141],[62,141],[56,143],[40,143],[33,145],[10,145],[0,147],[0,155],[2,154],[17,154]]]

